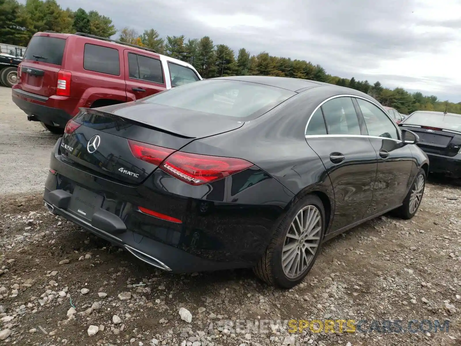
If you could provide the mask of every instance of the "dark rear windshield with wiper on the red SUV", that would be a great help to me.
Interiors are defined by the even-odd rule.
[[[24,59],[61,65],[65,39],[49,36],[34,36],[27,46]]]

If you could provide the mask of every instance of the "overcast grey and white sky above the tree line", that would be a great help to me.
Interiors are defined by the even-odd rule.
[[[343,78],[461,101],[461,0],[58,0],[117,29],[210,36]],[[130,14],[131,13],[131,14]]]

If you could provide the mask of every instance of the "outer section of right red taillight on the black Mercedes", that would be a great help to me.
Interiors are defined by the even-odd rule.
[[[207,156],[177,151],[171,154],[160,169],[190,185],[203,185],[225,178],[253,166],[233,157]]]

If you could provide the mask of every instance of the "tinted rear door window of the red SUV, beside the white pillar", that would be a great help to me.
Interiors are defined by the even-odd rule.
[[[163,84],[162,63],[158,59],[128,53],[128,70],[130,78]]]

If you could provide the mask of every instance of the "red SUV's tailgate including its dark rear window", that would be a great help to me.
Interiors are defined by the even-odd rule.
[[[64,38],[58,37],[32,37],[19,71],[18,84],[22,90],[47,97],[56,94],[65,42]]]

